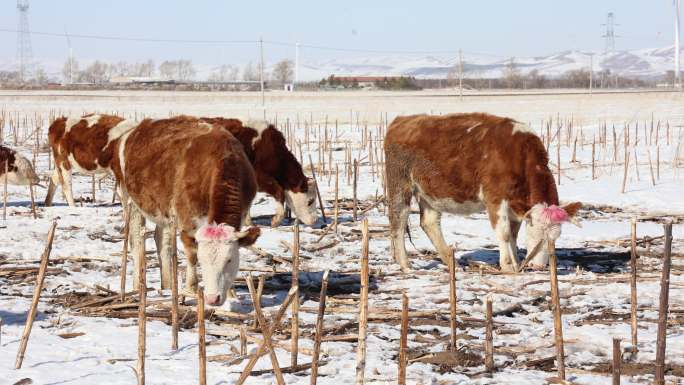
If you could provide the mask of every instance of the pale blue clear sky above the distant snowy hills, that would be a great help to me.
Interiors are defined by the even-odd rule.
[[[180,1],[30,0],[32,31],[221,43],[142,42],[72,38],[81,60],[144,61],[178,58],[195,63],[258,62],[254,41],[266,42],[266,61],[372,55],[308,46],[371,51],[548,55],[564,50],[602,51],[608,12],[615,14],[617,49],[673,44],[672,0],[405,1]],[[16,1],[0,1],[0,29],[16,30]],[[227,41],[247,41],[229,43]],[[281,44],[287,43],[287,44]],[[0,32],[0,69],[16,58],[17,33]],[[62,63],[64,36],[32,35],[33,56]],[[5,63],[4,65],[2,63]]]

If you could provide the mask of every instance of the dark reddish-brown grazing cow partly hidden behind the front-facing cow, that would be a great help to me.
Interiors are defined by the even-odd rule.
[[[315,183],[304,175],[301,164],[288,150],[285,137],[275,126],[264,121],[243,125],[238,119],[201,119],[225,128],[242,143],[254,166],[259,191],[276,200],[276,215],[271,226],[278,226],[285,217],[284,202],[304,224],[316,222]]]

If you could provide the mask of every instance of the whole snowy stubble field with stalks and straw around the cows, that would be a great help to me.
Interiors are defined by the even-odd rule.
[[[5,144],[35,161],[44,181],[52,166],[47,151],[49,120],[61,114],[116,113],[127,118],[170,114],[263,118],[277,122],[305,172],[316,172],[328,226],[301,227],[299,364],[311,362],[323,271],[331,271],[324,318],[319,384],[354,383],[359,324],[361,219],[370,228],[369,325],[366,383],[397,379],[402,293],[409,299],[407,382],[416,384],[544,384],[556,376],[554,322],[548,272],[503,274],[486,214],[445,215],[442,229],[456,247],[457,341],[460,354],[443,354],[451,338],[448,270],[410,217],[407,241],[413,271],[401,273],[389,251],[383,196],[382,137],[402,114],[484,111],[528,123],[549,149],[561,201],[581,201],[582,227],[567,224],[557,242],[567,379],[610,384],[613,338],[631,346],[630,221],[637,219],[638,353],[625,352],[623,384],[653,381],[659,308],[663,223],[673,221],[668,383],[684,378],[684,96],[678,93],[521,95],[433,92],[258,93],[0,91]],[[295,144],[298,142],[299,145]],[[309,162],[309,157],[312,159]],[[354,220],[353,163],[359,161]],[[559,162],[560,161],[560,162]],[[335,169],[339,170],[339,224],[332,230]],[[45,184],[46,182],[43,182]],[[131,384],[136,382],[137,295],[124,302],[119,290],[122,208],[113,202],[113,181],[74,178],[69,208],[57,193],[43,207],[35,187],[37,218],[25,186],[8,186],[7,219],[0,224],[0,373],[14,384]],[[93,196],[94,194],[94,196]],[[241,277],[263,276],[262,307],[270,319],[291,285],[292,223],[270,227],[272,199],[259,194],[252,208],[262,236],[243,250]],[[57,230],[45,289],[22,369],[14,360],[31,303],[48,228]],[[150,228],[152,230],[152,228]],[[524,226],[519,247],[524,246]],[[181,266],[185,261],[179,248]],[[168,291],[159,289],[154,242],[148,250],[148,383],[187,384],[198,379],[195,300],[181,306],[179,349],[172,351]],[[520,250],[519,255],[524,256]],[[128,291],[132,291],[128,264]],[[232,384],[261,334],[244,278],[237,298],[208,313],[208,383]],[[493,301],[495,371],[485,372],[485,299]],[[290,366],[289,312],[274,336],[281,367]],[[267,356],[248,384],[276,383]],[[301,369],[301,368],[300,368]],[[284,374],[286,383],[308,384],[309,370]],[[553,380],[551,380],[553,381]]]

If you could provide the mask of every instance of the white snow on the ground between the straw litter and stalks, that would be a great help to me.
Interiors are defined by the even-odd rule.
[[[2,96],[2,95],[0,95]],[[135,95],[133,95],[135,97]],[[46,115],[47,111],[90,111],[106,112],[115,110],[127,115],[145,114],[164,116],[169,111],[188,114],[226,115],[238,111],[240,104],[255,108],[251,100],[230,99],[230,96],[217,97],[213,102],[210,96],[171,95],[159,93],[141,96],[137,102],[128,95],[116,101],[116,98],[104,96],[91,98],[90,103],[83,102],[81,96],[53,95],[45,99],[20,95],[15,102],[5,95],[0,98],[8,116],[13,111],[21,110],[22,114],[38,111]],[[586,97],[586,96],[584,96]],[[681,104],[680,97],[652,96],[643,97],[624,95],[597,96],[593,100],[582,100],[566,97],[506,97],[467,99],[463,104],[451,100],[438,101],[437,112],[462,111],[464,109],[485,110],[510,115],[523,121],[529,121],[533,128],[540,132],[541,119],[556,113],[561,120],[574,119],[576,132],[581,127],[584,145],[577,146],[577,163],[570,163],[571,145],[565,140],[561,146],[562,175],[559,186],[562,201],[579,200],[587,204],[581,211],[582,227],[567,225],[563,229],[558,244],[560,265],[560,292],[563,306],[563,328],[565,334],[566,365],[568,379],[577,384],[609,384],[611,377],[609,362],[612,360],[612,339],[622,339],[622,346],[630,345],[629,326],[629,263],[628,248],[625,239],[629,238],[629,221],[632,215],[643,218],[638,225],[639,238],[658,237],[663,233],[664,216],[671,216],[677,224],[674,226],[673,270],[670,289],[670,327],[667,338],[667,362],[682,373],[684,366],[684,228],[679,224],[684,220],[684,199],[679,195],[684,188],[684,175],[681,167]],[[169,98],[169,99],[167,99]],[[316,95],[299,97],[294,101],[284,98],[274,102],[269,109],[269,117],[278,112],[278,121],[284,124],[287,118],[290,124],[295,122],[295,114],[299,113],[301,122],[297,130],[299,140],[304,140],[304,127],[311,125],[304,121],[314,117],[314,126],[323,125],[326,115],[325,105],[328,96],[317,98]],[[369,107],[373,113],[361,115],[360,125],[356,125],[356,114],[352,112],[354,121],[349,124],[350,112],[330,104],[329,129],[332,130],[332,116],[338,114],[338,143],[334,148],[343,149],[345,143],[353,148],[354,157],[361,159],[359,192],[362,207],[375,201],[376,194],[382,195],[379,175],[373,173],[369,164],[367,147],[361,148],[361,136],[364,121],[368,120],[370,131],[375,137],[379,114],[376,111],[389,111],[389,120],[402,110],[410,112],[430,112],[430,103],[420,96],[401,99],[380,95],[359,96],[359,100],[345,100],[347,97],[336,97],[345,106],[358,106],[359,103],[375,103]],[[660,100],[659,100],[660,98]],[[82,100],[83,99],[83,100]],[[369,100],[374,100],[370,102]],[[224,100],[229,107],[223,108]],[[204,102],[204,104],[203,104]],[[111,103],[111,104],[108,104]],[[232,104],[231,104],[232,103]],[[334,103],[334,101],[333,101]],[[396,103],[396,104],[395,104]],[[413,103],[413,104],[412,104]],[[313,107],[312,107],[313,105]],[[16,109],[13,107],[16,106]],[[315,109],[321,106],[320,109]],[[477,107],[479,106],[479,108]],[[283,107],[279,110],[279,107]],[[546,110],[544,111],[544,108]],[[421,110],[422,109],[422,110]],[[360,110],[360,108],[358,109]],[[358,111],[356,110],[356,111]],[[310,115],[309,112],[312,112]],[[651,113],[656,120],[663,122],[659,132],[659,146],[651,136],[650,145],[643,139],[643,124],[646,119],[650,124]],[[246,113],[242,111],[240,116]],[[315,114],[315,115],[314,115]],[[237,113],[236,113],[237,115]],[[23,115],[22,115],[23,116]],[[232,116],[232,115],[230,115]],[[343,120],[343,117],[347,117]],[[374,119],[374,120],[373,120]],[[636,146],[639,159],[638,176],[631,159],[626,184],[626,192],[621,193],[624,156],[622,145],[618,146],[618,161],[613,162],[612,133],[610,127],[616,125],[618,136],[622,134],[623,124],[640,120],[641,139]],[[597,178],[591,178],[591,138],[597,134],[599,121],[606,120],[608,143],[597,145]],[[666,143],[664,122],[671,123],[670,144]],[[581,123],[580,123],[581,122]],[[555,127],[555,120],[554,125]],[[46,128],[42,131],[46,133]],[[310,132],[310,140],[318,140],[316,130]],[[332,131],[331,131],[332,132]],[[6,124],[5,139],[12,141],[9,125]],[[655,132],[654,134],[655,135]],[[21,135],[20,135],[21,136]],[[580,137],[581,138],[581,137]],[[42,138],[45,141],[45,138]],[[22,140],[20,140],[21,142]],[[31,158],[31,141],[19,146],[19,150]],[[380,145],[376,143],[375,145]],[[304,159],[307,159],[307,146]],[[317,146],[312,144],[311,155],[318,159]],[[379,147],[381,148],[381,147]],[[379,149],[378,148],[378,149]],[[551,145],[550,157],[555,165],[556,143]],[[630,152],[634,151],[630,147]],[[648,157],[656,160],[660,154],[660,177],[656,185],[652,185]],[[326,161],[327,161],[326,153]],[[351,184],[347,183],[344,171],[344,151],[334,151],[335,162],[340,165],[340,197],[348,202],[352,197]],[[44,176],[48,174],[47,153],[41,152],[37,157],[38,171]],[[377,159],[377,158],[376,158]],[[377,165],[376,165],[377,167]],[[655,167],[655,163],[654,163]],[[326,166],[326,170],[329,170]],[[308,172],[308,171],[307,171]],[[323,199],[327,202],[326,212],[331,216],[334,198],[334,175],[317,170],[319,185]],[[68,300],[67,294],[72,292],[89,292],[105,295],[95,285],[118,290],[119,261],[121,252],[120,228],[121,207],[111,204],[111,181],[103,181],[96,192],[96,202],[83,203],[82,207],[69,208],[61,196],[57,195],[57,205],[50,208],[39,205],[39,218],[31,215],[30,196],[25,187],[9,186],[9,207],[7,220],[0,228],[0,317],[3,319],[2,339],[0,341],[0,373],[3,383],[13,384],[23,378],[30,378],[36,384],[131,384],[135,383],[134,368],[137,357],[137,322],[136,318],[116,319],[107,317],[87,317],[82,312],[62,306]],[[37,188],[36,200],[43,200],[45,190]],[[91,179],[89,176],[74,178],[75,197],[87,200],[91,197]],[[256,223],[262,226],[262,237],[257,246],[275,256],[289,257],[290,252],[283,246],[284,242],[292,242],[292,227],[289,224],[277,229],[268,227],[268,215],[274,212],[270,198],[260,199],[260,194],[252,209]],[[546,379],[555,376],[553,361],[541,360],[532,365],[533,360],[554,356],[553,317],[548,309],[549,283],[548,273],[529,272],[519,275],[498,274],[496,262],[498,250],[493,231],[484,214],[468,217],[445,215],[442,228],[448,243],[457,246],[457,257],[460,271],[457,273],[457,294],[459,329],[458,340],[464,349],[475,354],[482,353],[484,341],[484,299],[491,295],[494,312],[503,312],[494,317],[494,349],[497,371],[492,377],[481,375],[484,366],[475,363],[472,367],[450,367],[446,364],[434,364],[430,361],[430,352],[445,351],[449,336],[448,280],[445,266],[439,262],[433,252],[432,245],[418,226],[417,215],[410,218],[411,234],[414,246],[407,242],[409,252],[413,254],[414,272],[400,273],[389,252],[389,240],[386,234],[387,217],[383,214],[383,206],[369,210],[365,215],[370,222],[372,238],[370,241],[370,268],[372,273],[370,292],[371,319],[374,314],[388,314],[389,310],[401,308],[401,293],[409,296],[412,312],[434,312],[434,316],[417,315],[409,321],[409,349],[411,363],[408,366],[408,382],[420,384],[543,384]],[[28,344],[23,368],[14,370],[14,360],[24,326],[26,312],[30,305],[35,275],[28,274],[17,278],[6,274],[9,268],[17,266],[37,266],[43,251],[47,230],[53,220],[58,221],[51,259],[55,268],[46,278],[45,290],[39,305],[39,314],[34,324]],[[356,320],[358,311],[358,270],[361,242],[360,224],[353,222],[351,213],[343,210],[340,218],[339,234],[324,234],[319,226],[302,227],[302,288],[300,324],[303,335],[300,337],[299,363],[308,363],[311,358],[307,354],[312,349],[311,330],[315,324],[318,308],[318,285],[321,273],[325,269],[333,272],[328,297],[328,312],[325,317],[326,330],[339,327],[337,335],[353,335],[357,333]],[[519,237],[523,246],[524,229]],[[623,242],[618,242],[623,240]],[[332,247],[317,250],[322,245],[338,242]],[[148,250],[154,249],[152,240],[148,240]],[[639,260],[640,278],[639,293],[639,354],[631,361],[630,368],[637,368],[629,373],[625,369],[623,384],[651,383],[652,376],[644,374],[651,369],[655,359],[656,323],[658,297],[660,292],[660,268],[662,239],[655,239],[648,248],[646,244],[640,248],[643,254]],[[521,251],[522,253],[522,251]],[[182,251],[181,251],[181,261]],[[159,270],[156,260],[148,259],[148,286],[159,288]],[[184,265],[184,262],[182,262]],[[289,285],[288,264],[269,263],[266,258],[244,250],[241,254],[241,267],[254,270],[268,270],[275,266],[275,275],[267,274],[263,296],[263,307],[267,314],[272,314],[286,295],[283,283]],[[482,267],[484,266],[484,267]],[[491,266],[487,268],[486,266]],[[4,270],[3,270],[4,269]],[[63,271],[60,271],[62,269]],[[128,276],[128,289],[132,290],[132,275]],[[258,273],[255,273],[258,274]],[[349,283],[352,282],[352,283]],[[237,286],[238,298],[227,303],[221,310],[232,310],[249,314],[252,311],[251,300],[244,284]],[[154,307],[155,301],[168,298],[168,292],[152,291],[148,294],[148,302]],[[194,301],[189,300],[193,305]],[[519,304],[519,306],[514,306]],[[511,310],[512,309],[512,310]],[[137,311],[135,308],[132,310]],[[220,312],[217,312],[220,314]],[[289,313],[288,313],[289,314]],[[396,314],[396,313],[391,313]],[[267,315],[267,317],[270,317]],[[289,319],[289,315],[286,315]],[[218,322],[220,317],[207,322],[209,332],[207,355],[231,355],[236,358],[239,350],[237,325]],[[342,328],[342,326],[346,327]],[[148,383],[154,384],[187,384],[198,378],[197,333],[194,326],[184,328],[180,333],[179,350],[170,350],[170,327],[160,320],[148,320],[147,331],[147,363],[146,376]],[[343,329],[343,330],[342,330]],[[289,346],[289,323],[281,328],[285,334],[278,337],[280,343]],[[83,333],[65,335],[65,333]],[[259,336],[256,332],[250,335]],[[60,335],[73,338],[62,338]],[[228,337],[227,337],[227,336]],[[74,337],[75,336],[75,337]],[[367,383],[396,383],[396,356],[399,348],[399,323],[396,320],[371,320],[368,331],[368,363],[366,365]],[[256,349],[250,343],[248,352]],[[290,365],[290,353],[284,349],[276,349],[280,365]],[[231,359],[232,359],[231,358]],[[353,383],[355,377],[356,343],[324,342],[322,360],[327,364],[319,370],[320,384]],[[414,360],[415,359],[415,360]],[[246,361],[228,365],[229,359],[208,363],[207,374],[210,384],[232,384],[241,373]],[[530,366],[531,365],[531,366]],[[255,370],[270,369],[268,357],[261,358]],[[308,384],[308,371],[296,374],[285,374],[285,381],[293,384]],[[669,376],[670,382],[682,383],[682,378]],[[273,374],[253,376],[248,384],[275,383]]]

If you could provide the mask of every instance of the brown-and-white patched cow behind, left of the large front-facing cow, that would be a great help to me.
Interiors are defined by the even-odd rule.
[[[55,159],[45,206],[50,206],[57,186],[67,203],[76,207],[71,192],[71,173],[77,170],[86,174],[111,172],[117,140],[138,125],[114,115],[90,114],[77,118],[61,117],[48,129],[48,139]]]

